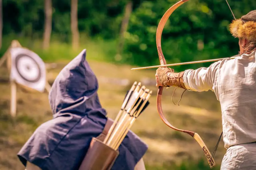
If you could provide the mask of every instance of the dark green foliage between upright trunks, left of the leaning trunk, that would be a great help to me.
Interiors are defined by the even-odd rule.
[[[134,0],[134,7],[142,0]],[[80,32],[104,39],[116,38],[128,0],[78,1]],[[70,0],[52,0],[52,32],[61,41],[69,41]],[[3,0],[3,34],[40,37],[44,31],[44,0]]]

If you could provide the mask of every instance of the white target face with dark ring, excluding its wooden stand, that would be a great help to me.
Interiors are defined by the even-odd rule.
[[[12,48],[10,79],[31,89],[44,91],[46,73],[44,61],[34,52],[25,48]]]

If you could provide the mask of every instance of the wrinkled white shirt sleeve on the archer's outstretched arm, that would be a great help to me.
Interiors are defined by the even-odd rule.
[[[183,80],[185,87],[192,91],[213,91],[215,75],[220,62],[215,62],[209,67],[201,67],[196,70],[188,69],[184,72]]]

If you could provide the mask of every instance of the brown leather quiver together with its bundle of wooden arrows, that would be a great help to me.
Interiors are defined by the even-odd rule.
[[[141,86],[140,82],[137,83],[135,81],[133,83],[104,140],[92,138],[90,147],[79,170],[111,169],[119,155],[118,147],[132,127],[132,124],[147,108],[151,94],[152,91],[146,89],[145,86]]]

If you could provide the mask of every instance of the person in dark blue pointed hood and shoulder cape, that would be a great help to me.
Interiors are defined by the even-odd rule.
[[[49,94],[53,119],[40,125],[18,152],[27,170],[77,170],[93,137],[103,131],[107,113],[101,107],[98,81],[86,61],[86,50],[65,66]],[[113,170],[145,169],[148,146],[129,131]]]

